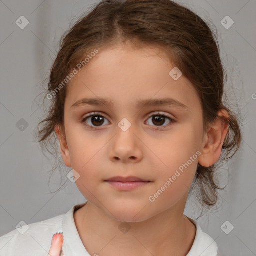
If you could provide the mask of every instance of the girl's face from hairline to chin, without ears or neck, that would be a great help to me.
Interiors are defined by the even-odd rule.
[[[172,209],[183,213],[204,132],[199,97],[184,76],[174,80],[169,75],[173,68],[157,48],[121,46],[99,50],[68,84],[64,106],[67,148],[62,157],[79,173],[76,184],[84,197],[117,220],[143,221]],[[113,106],[72,106],[84,98],[108,99]],[[136,107],[139,100],[163,98],[180,101],[187,109]],[[174,122],[152,117],[158,111]],[[82,123],[92,112],[105,118],[89,117]],[[123,191],[104,181],[114,176],[151,182]]]

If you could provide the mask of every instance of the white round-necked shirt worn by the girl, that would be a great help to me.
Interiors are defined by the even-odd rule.
[[[19,231],[14,229],[1,236],[0,256],[47,256],[52,236],[57,232],[63,232],[64,236],[61,255],[90,256],[80,239],[74,222],[74,211],[85,204],[86,202],[74,205],[66,214],[23,225],[22,228],[18,228]],[[216,242],[202,231],[195,220],[191,218],[189,220],[196,225],[196,235],[186,256],[217,256]],[[100,248],[95,251],[95,254],[101,254]]]

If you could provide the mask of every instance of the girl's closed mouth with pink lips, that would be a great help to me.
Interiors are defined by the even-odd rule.
[[[132,189],[136,189],[142,186],[147,185],[151,181],[149,180],[143,180],[138,177],[129,176],[129,177],[112,177],[107,180],[104,180],[108,184],[110,184],[112,187],[116,188],[117,190],[122,191],[130,191]]]

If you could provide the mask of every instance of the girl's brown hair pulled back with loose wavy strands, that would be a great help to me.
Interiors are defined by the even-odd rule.
[[[218,118],[220,109],[229,113],[229,119],[224,119],[229,130],[218,162],[230,159],[238,150],[241,141],[238,118],[222,102],[226,73],[221,64],[218,41],[209,25],[194,12],[171,0],[102,0],[66,33],[61,37],[60,50],[51,68],[47,93],[56,91],[70,70],[74,70],[77,63],[95,48],[127,42],[137,47],[157,46],[168,54],[195,87],[203,109],[205,129]],[[44,146],[48,142],[55,152],[58,148],[54,127],[63,125],[68,83],[61,87],[51,99],[47,118],[38,124],[38,141]],[[39,129],[42,123],[44,126]],[[215,165],[197,166],[192,188],[198,185],[197,198],[202,206],[215,205],[217,189],[223,189],[217,185]]]

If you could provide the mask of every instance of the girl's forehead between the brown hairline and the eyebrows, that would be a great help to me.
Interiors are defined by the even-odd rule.
[[[157,47],[134,48],[118,45],[99,49],[68,84],[66,103],[82,97],[112,99],[117,105],[137,99],[172,97],[186,105],[198,105],[199,98],[190,81],[170,72],[176,68]],[[173,72],[171,72],[173,73]]]

